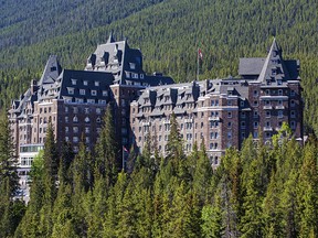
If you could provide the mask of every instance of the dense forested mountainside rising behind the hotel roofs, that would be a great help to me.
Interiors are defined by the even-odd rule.
[[[317,9],[315,0],[1,0],[1,107],[39,78],[50,54],[84,68],[110,31],[141,48],[148,73],[176,82],[193,80],[198,45],[200,78],[221,78],[237,75],[239,57],[265,56],[276,35],[285,58],[300,60],[305,121],[317,133]]]

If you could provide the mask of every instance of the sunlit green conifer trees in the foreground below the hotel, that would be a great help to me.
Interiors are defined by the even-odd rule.
[[[317,140],[305,147],[284,126],[273,145],[245,140],[212,170],[204,147],[183,153],[171,117],[168,154],[150,134],[123,171],[110,107],[93,152],[61,154],[49,127],[31,169],[31,199],[12,199],[8,120],[0,125],[0,237],[310,237],[318,236]],[[259,137],[262,138],[262,137]],[[120,156],[120,155],[119,155]],[[3,166],[4,165],[4,166]]]

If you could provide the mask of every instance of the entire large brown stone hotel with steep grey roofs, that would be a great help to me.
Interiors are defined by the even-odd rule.
[[[283,122],[303,139],[299,62],[284,60],[275,40],[266,57],[240,58],[235,78],[174,84],[158,73],[147,75],[140,50],[110,35],[87,58],[84,71],[62,69],[56,56],[50,56],[42,77],[12,101],[9,117],[20,176],[26,176],[43,148],[50,120],[57,144],[70,141],[76,152],[84,134],[92,149],[108,104],[123,147],[142,151],[150,133],[165,155],[174,112],[184,151],[204,141],[213,166],[226,148],[240,149],[250,134],[257,139],[262,131],[264,141],[271,141]]]

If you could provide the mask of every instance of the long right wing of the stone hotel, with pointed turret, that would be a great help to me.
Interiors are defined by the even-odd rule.
[[[240,77],[148,87],[130,105],[131,143],[142,151],[147,133],[165,155],[176,115],[186,152],[204,141],[213,166],[250,134],[271,143],[283,122],[303,140],[299,63],[285,61],[274,40],[266,58],[241,58]],[[204,139],[204,140],[203,140]]]

